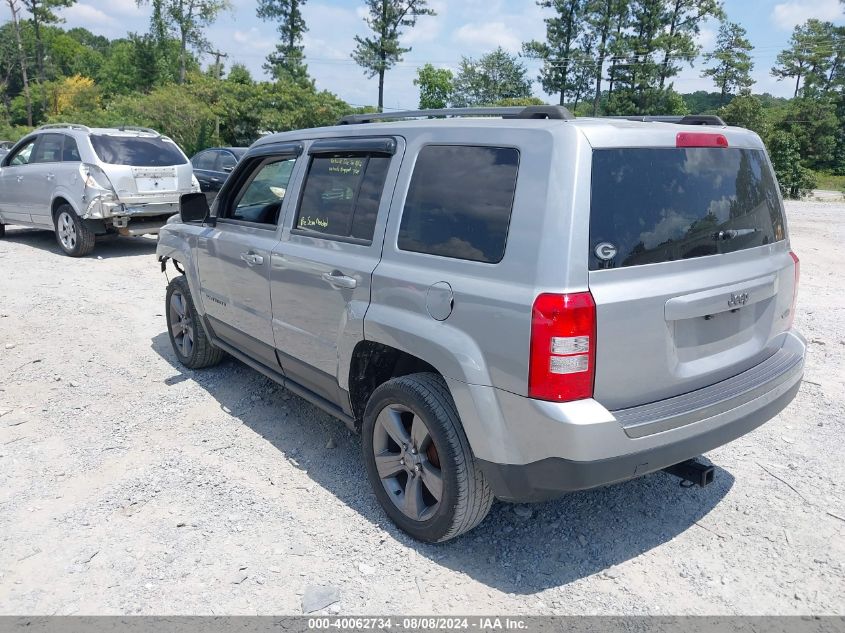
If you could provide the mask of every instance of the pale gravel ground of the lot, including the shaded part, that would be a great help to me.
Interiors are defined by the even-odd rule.
[[[806,381],[713,451],[421,545],[360,440],[244,365],[177,365],[155,243],[0,241],[0,614],[845,613],[845,205],[791,203]],[[836,254],[836,257],[834,257]]]

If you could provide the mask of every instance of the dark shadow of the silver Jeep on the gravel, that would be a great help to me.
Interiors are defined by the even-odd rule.
[[[381,511],[361,461],[360,438],[341,422],[231,358],[207,370],[185,369],[166,332],[153,338],[152,348],[179,372],[173,380],[195,381],[340,502],[436,564],[503,592],[530,595],[597,573],[612,582],[615,565],[690,529],[714,544],[726,538],[724,528],[707,519],[734,482],[717,466],[706,488],[683,488],[675,477],[654,473],[546,503],[498,502],[470,533],[440,545],[419,543]],[[327,447],[330,439],[333,448]]]

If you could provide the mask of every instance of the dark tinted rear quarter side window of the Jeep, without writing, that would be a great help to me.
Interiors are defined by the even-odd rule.
[[[432,145],[414,167],[399,248],[496,263],[505,254],[519,152]]]

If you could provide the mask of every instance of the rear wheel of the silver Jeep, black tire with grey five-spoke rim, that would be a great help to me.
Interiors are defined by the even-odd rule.
[[[430,438],[428,444],[422,441],[417,450],[417,442],[411,436],[418,434],[414,425],[419,421],[424,423]],[[393,434],[388,432],[388,444],[384,443],[383,427],[394,422],[404,425],[412,448],[399,446],[395,434],[401,431],[395,426]],[[367,402],[362,434],[364,463],[373,491],[390,519],[414,538],[428,543],[447,541],[471,530],[487,516],[493,505],[493,493],[475,462],[452,395],[441,376],[411,374],[379,386]],[[402,455],[398,462],[401,466],[395,461],[397,450]],[[435,457],[436,468],[433,467]],[[417,460],[413,469],[419,473],[417,487],[422,486],[418,496],[424,504],[433,502],[424,506],[422,512],[416,512],[417,504],[408,503],[409,486],[417,479],[407,465],[408,458]],[[393,469],[397,474],[388,475]],[[439,500],[426,484],[426,477],[432,477],[430,472],[440,475]],[[438,479],[434,476],[431,481]],[[420,518],[414,519],[412,515]]]

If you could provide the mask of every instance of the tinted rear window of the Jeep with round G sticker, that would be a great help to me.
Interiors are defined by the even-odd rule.
[[[729,253],[785,237],[762,150],[593,152],[590,270]]]

